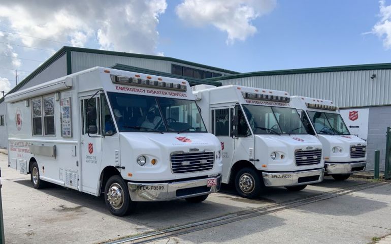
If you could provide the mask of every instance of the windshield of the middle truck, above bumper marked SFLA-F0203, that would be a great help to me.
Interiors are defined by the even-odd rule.
[[[243,105],[254,134],[307,134],[295,108]]]

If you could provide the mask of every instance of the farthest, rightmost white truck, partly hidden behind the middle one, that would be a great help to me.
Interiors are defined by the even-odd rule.
[[[345,180],[366,167],[366,141],[350,135],[332,101],[291,97],[307,131],[319,138],[323,148],[325,174]]]

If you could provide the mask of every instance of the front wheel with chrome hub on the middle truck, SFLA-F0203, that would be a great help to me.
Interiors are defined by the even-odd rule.
[[[243,168],[239,170],[235,177],[235,188],[242,197],[258,197],[263,188],[259,172],[253,168]]]

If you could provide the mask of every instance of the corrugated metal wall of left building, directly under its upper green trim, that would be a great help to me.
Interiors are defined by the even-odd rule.
[[[224,73],[216,70],[205,69],[197,66],[191,66],[187,64],[181,64],[181,63],[176,63],[176,62],[171,62],[166,60],[148,59],[148,58],[140,58],[140,57],[125,57],[125,56],[106,55],[106,54],[87,53],[87,52],[72,52],[71,55],[72,55],[72,73],[89,69],[95,66],[111,67],[115,64],[129,65],[129,66],[140,67],[143,69],[171,73],[171,65],[178,64],[181,66],[229,75],[229,73]]]

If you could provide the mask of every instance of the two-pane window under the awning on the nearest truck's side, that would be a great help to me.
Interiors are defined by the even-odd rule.
[[[54,97],[32,99],[31,105],[32,135],[54,136]]]

